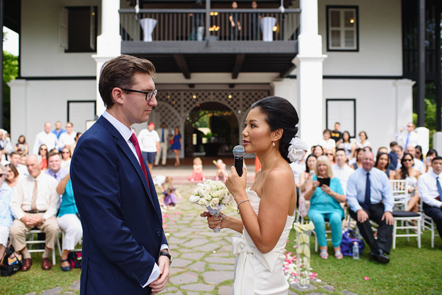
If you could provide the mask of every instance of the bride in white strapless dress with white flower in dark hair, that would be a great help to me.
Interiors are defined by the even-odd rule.
[[[244,123],[242,144],[246,153],[255,153],[259,158],[261,171],[249,190],[245,169],[240,177],[232,166],[226,181],[240,218],[217,219],[209,212],[201,213],[211,229],[220,226],[242,233],[232,239],[236,254],[233,294],[288,292],[289,284],[282,271],[283,253],[296,207],[289,162],[302,157],[305,149],[305,144],[294,138],[296,124],[298,114],[287,99],[272,96],[252,104]]]

